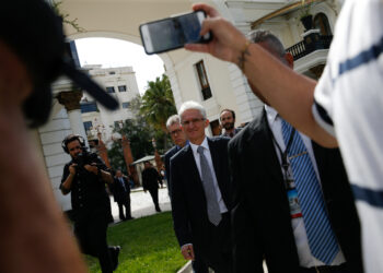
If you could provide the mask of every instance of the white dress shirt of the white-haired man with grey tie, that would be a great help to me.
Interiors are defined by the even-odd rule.
[[[213,180],[213,186],[214,186],[214,190],[216,190],[216,194],[217,194],[217,200],[218,200],[218,204],[220,206],[220,212],[221,213],[225,213],[228,212],[228,207],[223,202],[222,199],[222,194],[221,194],[221,190],[218,187],[218,181],[217,181],[217,177],[216,177],[216,170],[214,170],[214,166],[212,165],[212,161],[211,161],[211,154],[210,154],[210,147],[208,144],[208,139],[205,136],[205,140],[202,141],[202,143],[200,145],[196,145],[193,144],[190,142],[190,147],[193,150],[193,156],[194,159],[196,161],[196,165],[198,168],[198,173],[199,173],[199,177],[201,177],[201,167],[200,167],[200,161],[199,161],[199,154],[197,152],[198,146],[202,146],[204,147],[204,155],[206,157],[206,159],[208,161],[210,170],[211,170],[211,176],[212,176],[212,180]]]

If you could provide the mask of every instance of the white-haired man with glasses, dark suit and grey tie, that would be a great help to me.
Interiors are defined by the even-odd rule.
[[[189,141],[171,158],[175,235],[186,260],[202,260],[214,272],[232,272],[228,138],[205,135],[206,110],[195,102],[179,108]]]

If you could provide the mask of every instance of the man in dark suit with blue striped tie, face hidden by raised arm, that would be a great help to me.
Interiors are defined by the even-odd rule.
[[[272,34],[256,32],[252,40],[292,68],[291,55]],[[338,150],[293,129],[287,139],[287,128],[266,105],[230,142],[235,272],[264,272],[264,259],[269,273],[362,272],[359,219]],[[291,155],[298,142],[305,151]]]

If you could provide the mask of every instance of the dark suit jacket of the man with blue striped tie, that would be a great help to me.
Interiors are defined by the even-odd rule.
[[[313,143],[330,223],[350,272],[362,272],[360,226],[338,150]],[[299,258],[281,167],[266,114],[229,144],[234,187],[232,228],[236,272],[297,273]]]

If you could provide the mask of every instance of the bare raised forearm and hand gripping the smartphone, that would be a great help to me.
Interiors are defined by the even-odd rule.
[[[246,75],[255,95],[272,106],[278,114],[300,132],[326,147],[336,147],[336,139],[320,126],[313,116],[316,82],[299,74],[258,44],[251,44],[229,21],[220,17],[212,7],[199,3],[193,10],[208,14],[200,35],[211,32],[208,44],[188,44],[185,49],[208,52],[239,66]]]

